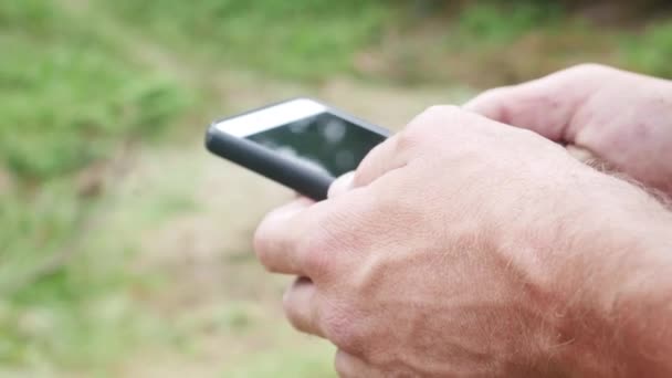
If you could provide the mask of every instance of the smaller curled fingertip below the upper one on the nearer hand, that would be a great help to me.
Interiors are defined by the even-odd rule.
[[[283,296],[283,307],[294,328],[324,337],[317,316],[316,287],[309,279],[298,277],[294,281]]]

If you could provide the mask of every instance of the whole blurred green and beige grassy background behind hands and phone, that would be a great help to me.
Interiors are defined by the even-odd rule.
[[[601,62],[672,77],[671,3],[0,2],[0,376],[330,377],[251,235],[292,193],[210,120],[295,95],[399,128]]]

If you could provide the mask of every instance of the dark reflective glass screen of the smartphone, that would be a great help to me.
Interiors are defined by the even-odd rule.
[[[355,170],[384,136],[330,113],[253,134],[248,139],[338,177]]]

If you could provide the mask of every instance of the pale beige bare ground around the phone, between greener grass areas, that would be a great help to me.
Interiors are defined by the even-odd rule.
[[[450,88],[408,90],[345,78],[301,86],[222,72],[218,81],[231,112],[308,95],[390,128],[403,126],[429,105],[465,97]],[[140,147],[112,186],[106,206],[114,210],[97,232],[125,230],[119,234],[138,243],[128,269],[162,282],[143,298],[144,306],[189,335],[187,350],[148,346],[118,364],[113,376],[332,376],[333,347],[293,332],[283,319],[282,291],[291,279],[269,275],[252,253],[258,221],[294,195],[209,155],[202,146],[206,127],[192,127],[191,137],[168,146]],[[128,223],[138,223],[133,220],[138,207],[166,202],[176,202],[178,210],[128,231]]]

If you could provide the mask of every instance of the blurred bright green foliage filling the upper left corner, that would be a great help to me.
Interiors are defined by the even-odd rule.
[[[20,177],[84,167],[119,136],[158,130],[186,102],[53,2],[6,1],[0,20],[0,159]]]

